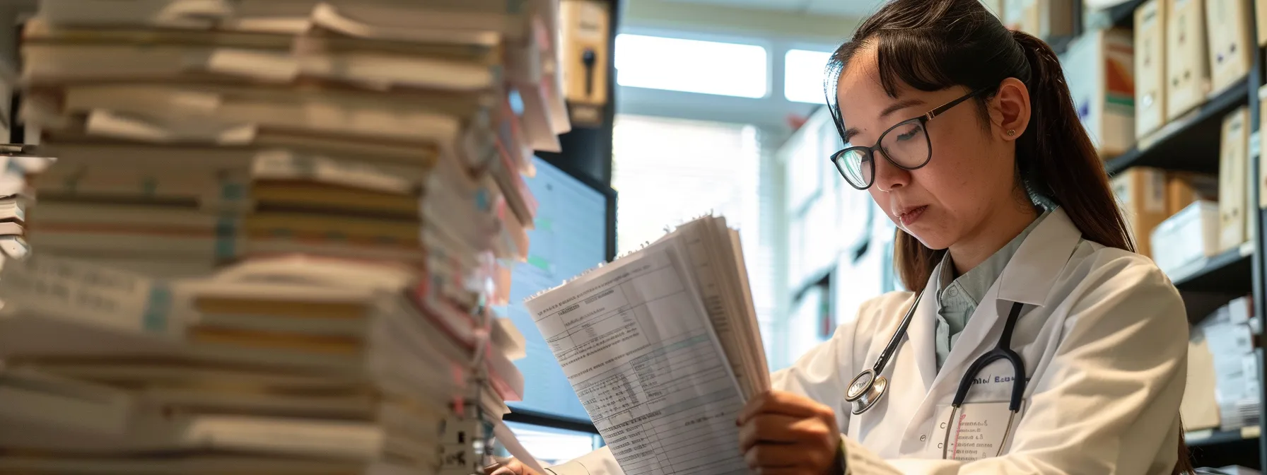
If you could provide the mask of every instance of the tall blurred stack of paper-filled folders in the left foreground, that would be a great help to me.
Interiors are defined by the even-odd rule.
[[[556,0],[42,0],[0,472],[480,471]]]

